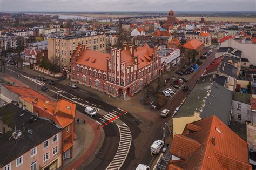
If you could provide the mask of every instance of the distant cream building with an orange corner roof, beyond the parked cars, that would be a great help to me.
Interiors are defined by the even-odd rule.
[[[186,32],[185,38],[187,40],[197,39],[200,42],[204,43],[205,47],[212,45],[211,34],[208,32]]]

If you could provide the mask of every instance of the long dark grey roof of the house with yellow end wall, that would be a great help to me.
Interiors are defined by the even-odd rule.
[[[229,124],[232,92],[218,83],[211,83],[210,79],[212,80],[212,76],[206,76],[198,81],[174,118],[190,117],[195,111],[200,112],[200,108],[203,108],[200,118],[216,115],[226,125]],[[209,89],[211,92],[207,96]],[[205,106],[203,107],[204,100]]]

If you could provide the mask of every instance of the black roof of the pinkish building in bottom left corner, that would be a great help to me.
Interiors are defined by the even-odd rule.
[[[17,130],[22,131],[21,137],[17,140],[10,138],[14,131],[9,131],[0,136],[0,167],[30,151],[30,149],[60,131],[49,120],[35,117],[29,111],[23,110],[12,103],[0,107],[0,118],[13,130],[16,125]],[[23,133],[23,124],[25,133]],[[45,127],[47,127],[47,130],[45,130]],[[28,133],[28,129],[32,130],[32,134]]]

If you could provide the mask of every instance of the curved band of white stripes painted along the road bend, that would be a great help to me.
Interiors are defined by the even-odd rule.
[[[120,133],[119,146],[114,159],[110,162],[106,169],[120,169],[124,164],[131,147],[132,134],[130,128],[125,123],[120,125],[117,124],[117,127]]]

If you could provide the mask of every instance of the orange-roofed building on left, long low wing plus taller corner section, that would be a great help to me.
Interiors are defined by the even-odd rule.
[[[7,103],[16,103],[35,117],[53,121],[62,131],[60,135],[60,147],[62,148],[60,166],[63,165],[65,159],[72,158],[75,136],[75,103],[65,99],[53,101],[30,88],[11,85],[1,86],[1,99]]]

